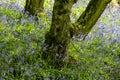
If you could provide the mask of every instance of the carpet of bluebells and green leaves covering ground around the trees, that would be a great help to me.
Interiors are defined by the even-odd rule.
[[[73,6],[73,22],[88,2]],[[25,0],[0,0],[0,80],[120,80],[120,7],[107,6],[85,40],[71,40],[69,53],[78,64],[52,69],[41,60],[41,47],[53,3],[46,0],[36,18],[24,13]]]

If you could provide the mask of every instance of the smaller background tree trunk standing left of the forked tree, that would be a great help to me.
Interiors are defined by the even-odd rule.
[[[25,11],[32,15],[40,15],[43,12],[44,0],[26,0]]]

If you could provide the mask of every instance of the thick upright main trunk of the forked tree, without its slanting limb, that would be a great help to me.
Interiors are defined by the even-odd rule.
[[[55,0],[50,31],[46,34],[43,58],[55,67],[63,66],[68,53],[70,34],[70,13],[74,0]]]

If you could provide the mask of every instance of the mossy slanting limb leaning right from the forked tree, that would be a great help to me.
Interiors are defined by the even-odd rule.
[[[74,23],[75,27],[77,27],[75,35],[81,35],[85,39],[109,2],[111,0],[91,0],[85,11]]]

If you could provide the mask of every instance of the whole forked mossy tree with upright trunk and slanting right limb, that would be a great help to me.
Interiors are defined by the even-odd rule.
[[[55,0],[50,31],[46,34],[42,57],[54,67],[62,67],[68,54],[70,39],[80,32],[88,34],[111,0],[91,0],[76,23],[70,21],[76,0]]]

